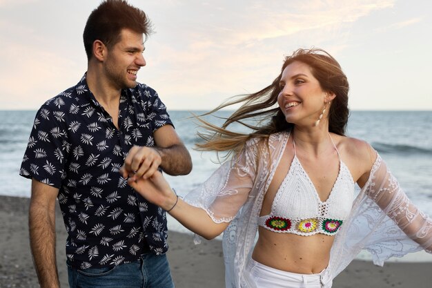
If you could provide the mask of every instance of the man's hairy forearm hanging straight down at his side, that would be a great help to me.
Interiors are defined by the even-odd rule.
[[[55,256],[55,211],[30,204],[30,248],[41,288],[58,288],[59,276]]]

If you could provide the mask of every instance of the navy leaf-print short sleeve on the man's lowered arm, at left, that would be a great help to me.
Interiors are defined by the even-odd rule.
[[[39,109],[19,175],[60,188],[61,180],[66,177],[65,159],[70,148],[61,116],[48,105]]]

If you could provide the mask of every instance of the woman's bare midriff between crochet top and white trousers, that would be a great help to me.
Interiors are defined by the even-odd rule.
[[[334,236],[275,233],[259,227],[253,260],[268,267],[301,274],[320,273],[328,266]]]

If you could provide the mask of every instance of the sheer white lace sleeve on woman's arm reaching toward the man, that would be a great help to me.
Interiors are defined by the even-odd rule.
[[[256,174],[257,143],[246,142],[241,153],[222,164],[206,182],[186,195],[189,204],[204,209],[216,223],[230,222],[248,200]]]

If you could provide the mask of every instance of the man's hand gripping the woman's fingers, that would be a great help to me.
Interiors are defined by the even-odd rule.
[[[161,162],[161,154],[156,148],[133,146],[124,160],[120,174],[124,178],[129,177],[130,181],[148,179],[157,171]]]

